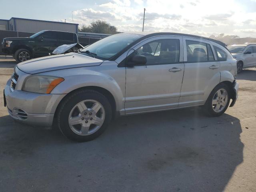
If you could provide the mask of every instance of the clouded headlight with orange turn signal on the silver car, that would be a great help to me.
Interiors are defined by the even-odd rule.
[[[64,81],[64,78],[43,75],[30,75],[24,80],[22,90],[34,93],[49,94],[62,81]]]

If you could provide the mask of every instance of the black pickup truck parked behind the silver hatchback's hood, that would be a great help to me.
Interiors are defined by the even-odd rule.
[[[23,62],[31,58],[49,56],[58,46],[77,42],[75,33],[44,30],[26,38],[4,38],[2,52],[12,54],[17,62]]]

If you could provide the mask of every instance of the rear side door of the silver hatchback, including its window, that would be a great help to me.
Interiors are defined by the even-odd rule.
[[[183,37],[184,78],[179,107],[204,104],[211,91],[220,82],[220,64],[210,41]]]

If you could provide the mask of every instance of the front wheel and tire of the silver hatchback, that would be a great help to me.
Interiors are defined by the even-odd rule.
[[[67,138],[85,142],[100,136],[111,118],[111,105],[103,94],[94,90],[78,90],[61,102],[57,125]]]

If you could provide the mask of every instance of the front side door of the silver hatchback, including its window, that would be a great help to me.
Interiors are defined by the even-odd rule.
[[[126,67],[126,114],[177,108],[184,73],[182,38],[150,38],[131,52],[128,57],[141,54],[147,63]]]

